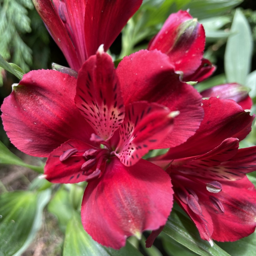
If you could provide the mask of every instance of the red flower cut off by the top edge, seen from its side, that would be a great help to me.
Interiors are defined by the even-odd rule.
[[[70,68],[78,71],[101,44],[114,42],[142,0],[33,0]]]

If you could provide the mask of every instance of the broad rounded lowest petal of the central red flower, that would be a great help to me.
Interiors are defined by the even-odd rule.
[[[166,223],[172,209],[171,187],[170,177],[160,167],[146,160],[125,167],[113,157],[102,177],[85,189],[84,229],[98,243],[119,249],[128,236]]]

